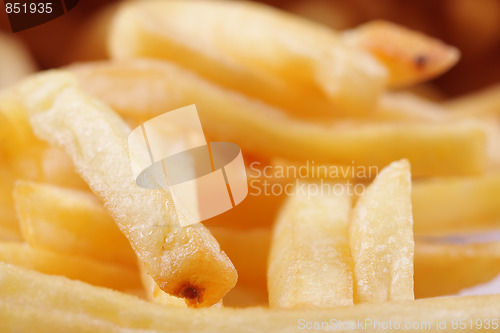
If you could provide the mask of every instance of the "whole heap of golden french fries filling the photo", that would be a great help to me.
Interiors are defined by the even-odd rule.
[[[96,22],[109,59],[0,73],[0,331],[499,329],[499,290],[457,296],[500,276],[499,88],[411,92],[456,48],[253,2],[125,2]],[[179,227],[170,193],[135,183],[127,138],[190,104],[249,184],[293,194]],[[378,172],[265,172],[310,161]],[[300,191],[320,180],[340,190]]]

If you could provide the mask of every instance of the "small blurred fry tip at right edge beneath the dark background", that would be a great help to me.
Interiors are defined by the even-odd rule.
[[[461,116],[500,117],[500,84],[447,101],[444,106]]]

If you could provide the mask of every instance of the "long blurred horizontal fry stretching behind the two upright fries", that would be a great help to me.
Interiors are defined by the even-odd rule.
[[[379,168],[407,158],[414,176],[477,174],[485,168],[482,123],[304,122],[168,63],[129,60],[70,70],[86,91],[135,123],[195,103],[211,139],[237,143],[256,156]]]

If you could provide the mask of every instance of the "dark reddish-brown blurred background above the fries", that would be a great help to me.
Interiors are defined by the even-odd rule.
[[[404,5],[397,0],[264,2],[338,30],[374,19],[389,20],[458,47],[462,52],[460,62],[431,82],[431,87],[436,88],[432,89],[436,99],[500,81],[500,0],[410,0]],[[15,34],[2,10],[0,30],[24,42],[38,69],[101,59],[106,56],[104,39],[108,18],[117,3],[119,1],[80,0],[67,14]]]

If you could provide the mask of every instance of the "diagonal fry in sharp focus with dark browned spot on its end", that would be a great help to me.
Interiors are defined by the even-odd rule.
[[[69,153],[162,290],[191,306],[217,303],[236,283],[231,261],[203,225],[178,226],[167,192],[135,184],[127,147],[130,129],[72,80],[52,72],[19,88],[35,134]]]

